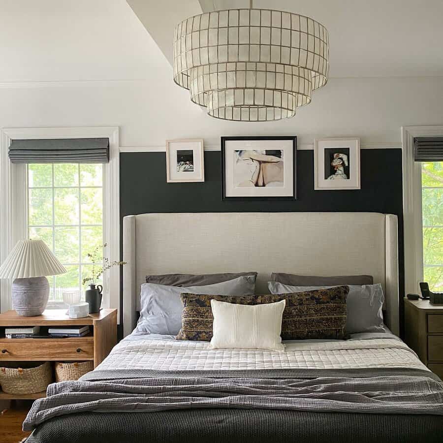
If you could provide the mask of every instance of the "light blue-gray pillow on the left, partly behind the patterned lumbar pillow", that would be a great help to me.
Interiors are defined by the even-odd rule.
[[[253,295],[255,276],[238,277],[205,286],[141,285],[140,318],[136,332],[177,335],[182,327],[182,292],[209,295]]]

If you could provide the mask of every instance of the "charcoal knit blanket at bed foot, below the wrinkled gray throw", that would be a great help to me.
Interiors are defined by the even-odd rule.
[[[38,426],[26,443],[441,443],[441,416],[203,409],[82,413]]]

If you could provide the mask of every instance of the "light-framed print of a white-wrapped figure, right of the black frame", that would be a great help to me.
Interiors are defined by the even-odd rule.
[[[314,141],[314,189],[360,189],[360,139]]]

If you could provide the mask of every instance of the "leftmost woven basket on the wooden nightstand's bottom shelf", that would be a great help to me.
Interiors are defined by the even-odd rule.
[[[11,362],[6,365],[0,368],[1,390],[6,394],[25,395],[46,391],[48,384],[52,382],[49,362],[36,367],[30,367],[35,365],[30,362]]]

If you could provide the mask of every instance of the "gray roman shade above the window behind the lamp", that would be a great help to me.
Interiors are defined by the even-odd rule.
[[[108,138],[12,140],[12,163],[108,163]]]

